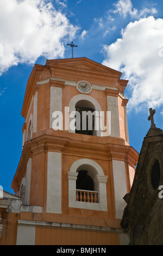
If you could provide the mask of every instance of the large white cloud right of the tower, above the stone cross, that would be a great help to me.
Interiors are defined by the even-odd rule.
[[[163,105],[163,19],[150,16],[130,22],[122,38],[104,46],[103,64],[123,72],[129,80],[128,107]],[[163,46],[163,45],[162,45]]]

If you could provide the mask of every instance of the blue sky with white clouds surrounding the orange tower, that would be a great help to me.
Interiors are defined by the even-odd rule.
[[[163,2],[137,0],[1,0],[0,185],[13,193],[22,149],[24,93],[35,63],[86,57],[123,72],[129,80],[130,145],[139,153],[150,127],[163,128]]]

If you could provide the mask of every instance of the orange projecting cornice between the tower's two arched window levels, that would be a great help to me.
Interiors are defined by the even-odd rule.
[[[100,159],[104,161],[128,161],[131,166],[136,165],[139,154],[132,147],[122,144],[97,143],[74,140],[68,137],[54,135],[40,135],[24,143],[22,156],[11,187],[16,192],[22,178],[26,175],[27,163],[30,157],[48,151],[61,152],[65,155]]]

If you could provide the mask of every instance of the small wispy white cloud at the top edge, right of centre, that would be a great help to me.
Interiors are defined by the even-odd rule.
[[[153,15],[157,13],[155,8],[145,8],[140,11],[138,11],[136,8],[133,8],[133,4],[130,0],[119,0],[115,5],[114,13],[118,13],[120,15],[123,15],[124,17],[129,14],[131,17],[146,17],[147,15]]]

